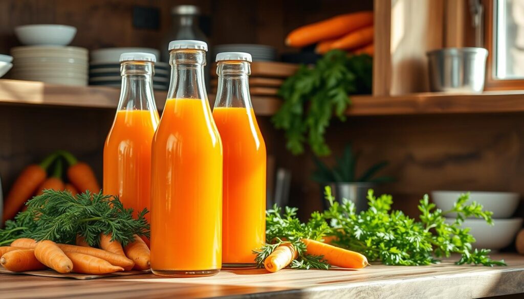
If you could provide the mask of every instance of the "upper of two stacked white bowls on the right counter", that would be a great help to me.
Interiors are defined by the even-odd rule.
[[[431,200],[442,211],[449,211],[464,191],[433,191]],[[519,205],[520,195],[512,192],[470,192],[468,203],[477,202],[484,207],[484,211],[493,212],[493,218],[509,218],[515,213]],[[455,217],[455,213],[446,216]]]

